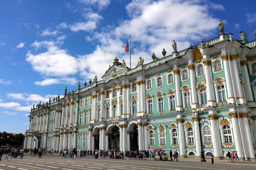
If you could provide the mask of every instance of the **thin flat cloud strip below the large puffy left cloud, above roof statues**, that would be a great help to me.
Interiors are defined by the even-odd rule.
[[[54,84],[70,84],[75,85],[77,83],[75,78],[60,78],[60,79],[45,79],[43,81],[36,81],[35,85],[46,86]]]

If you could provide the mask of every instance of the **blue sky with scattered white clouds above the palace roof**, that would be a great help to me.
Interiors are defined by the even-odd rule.
[[[232,3],[230,3],[232,2]],[[77,89],[102,77],[113,58],[129,54],[132,67],[140,56],[150,62],[152,52],[170,55],[172,40],[183,50],[225,33],[249,41],[256,27],[255,0],[9,0],[0,2],[0,131],[28,129],[33,103]],[[82,85],[83,87],[83,85]]]

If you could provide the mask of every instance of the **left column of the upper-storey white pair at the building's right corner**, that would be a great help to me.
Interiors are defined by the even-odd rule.
[[[223,55],[223,65],[224,65],[224,72],[225,72],[225,79],[226,79],[226,88],[228,92],[228,102],[229,103],[234,103],[234,90],[232,89],[232,82],[231,82],[231,75],[230,75],[230,69],[229,69],[229,64],[228,64],[228,56]]]

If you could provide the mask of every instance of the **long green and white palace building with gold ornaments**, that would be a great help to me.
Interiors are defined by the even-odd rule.
[[[255,159],[256,40],[239,35],[153,53],[132,69],[114,58],[102,80],[32,108],[24,148],[162,148],[199,157],[202,143],[205,155]]]

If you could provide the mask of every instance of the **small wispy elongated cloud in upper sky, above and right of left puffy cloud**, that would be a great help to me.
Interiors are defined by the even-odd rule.
[[[70,25],[69,27],[70,27],[70,30],[72,30],[74,32],[78,32],[80,30],[91,31],[91,30],[94,30],[95,28],[97,28],[95,21],[78,22],[78,23],[74,23],[74,24]]]

